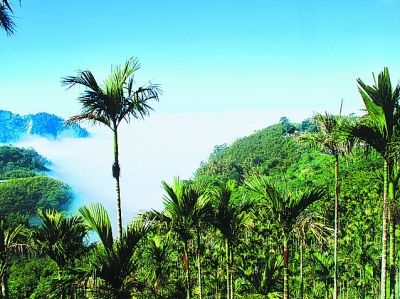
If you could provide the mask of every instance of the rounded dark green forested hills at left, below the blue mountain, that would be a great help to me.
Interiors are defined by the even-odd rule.
[[[33,149],[0,147],[0,216],[8,224],[28,223],[38,209],[61,209],[70,187],[45,175],[48,161]]]

